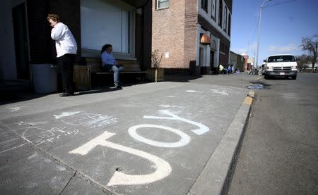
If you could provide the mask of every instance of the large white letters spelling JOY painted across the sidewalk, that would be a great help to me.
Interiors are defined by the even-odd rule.
[[[196,126],[196,128],[192,130],[192,132],[196,135],[205,134],[206,132],[210,130],[208,127],[206,127],[206,125],[203,125],[199,122],[195,122],[192,120],[188,120],[186,118],[181,118],[175,115],[174,113],[171,113],[168,110],[160,110],[159,113],[161,114],[161,116],[143,115],[143,118],[149,119],[149,120],[152,120],[152,119],[180,120],[182,122],[187,122],[191,125]],[[83,121],[86,121],[86,120],[83,120]],[[76,122],[78,121],[76,120]],[[87,124],[87,122],[84,122],[84,124]],[[166,131],[177,134],[179,137],[181,137],[181,139],[177,142],[163,142],[163,141],[151,140],[137,133],[137,130],[140,128],[146,128],[146,130],[149,128],[166,130]],[[191,141],[191,137],[187,133],[182,132],[182,130],[177,130],[175,128],[167,127],[163,125],[153,125],[153,124],[134,125],[132,127],[129,127],[128,132],[132,138],[138,141],[141,141],[144,144],[157,146],[157,147],[165,147],[165,148],[182,147],[189,144],[189,142]],[[131,155],[134,155],[134,156],[145,158],[151,163],[150,166],[156,168],[154,172],[151,172],[147,175],[129,175],[124,172],[116,171],[114,172],[114,175],[112,175],[112,177],[110,178],[109,182],[107,183],[107,186],[148,184],[151,182],[156,182],[158,180],[163,180],[163,178],[170,175],[170,173],[172,172],[172,168],[167,161],[163,160],[162,158],[159,158],[158,156],[154,156],[151,153],[147,153],[145,151],[141,151],[137,149],[131,149],[130,147],[123,146],[121,144],[116,144],[112,141],[107,141],[107,139],[109,139],[110,137],[114,135],[116,134],[105,131],[102,134],[100,134],[98,137],[95,137],[94,139],[91,139],[90,141],[86,142],[86,144],[83,144],[82,146],[79,146],[78,148],[73,149],[72,151],[69,151],[69,153],[86,156],[86,154],[92,151],[96,146],[105,146],[111,149],[130,153]]]

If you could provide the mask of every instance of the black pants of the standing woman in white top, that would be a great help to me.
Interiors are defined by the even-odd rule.
[[[63,87],[65,92],[69,94],[73,94],[75,88],[73,83],[73,63],[75,56],[75,54],[64,54],[58,58]]]

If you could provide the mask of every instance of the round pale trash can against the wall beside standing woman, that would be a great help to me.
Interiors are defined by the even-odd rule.
[[[52,64],[32,64],[32,76],[35,93],[57,92],[57,68]]]

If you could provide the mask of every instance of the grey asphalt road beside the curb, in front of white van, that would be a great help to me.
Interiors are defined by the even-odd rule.
[[[318,74],[259,83],[228,194],[318,194]]]

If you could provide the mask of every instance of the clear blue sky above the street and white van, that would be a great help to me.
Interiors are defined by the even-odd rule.
[[[260,6],[264,0],[232,0],[230,50],[254,58]],[[266,1],[261,13],[258,65],[272,54],[306,54],[302,37],[318,34],[318,0]]]

